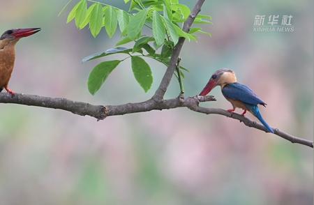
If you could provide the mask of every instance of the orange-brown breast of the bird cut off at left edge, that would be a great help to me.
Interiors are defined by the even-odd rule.
[[[0,88],[10,80],[15,61],[15,43],[0,41]]]

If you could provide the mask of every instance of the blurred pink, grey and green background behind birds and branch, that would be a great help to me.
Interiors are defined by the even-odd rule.
[[[87,77],[100,61],[81,59],[114,47],[119,35],[94,39],[66,24],[69,10],[57,17],[66,0],[0,2],[0,33],[43,28],[17,44],[13,91],[99,105],[154,94],[165,72],[154,61],[148,93],[124,62],[89,94]],[[262,114],[271,126],[313,139],[313,1],[205,1],[202,13],[213,17],[204,27],[213,36],[184,45],[186,95],[199,93],[218,68],[232,68],[267,102]],[[253,32],[255,15],[293,15],[295,31]],[[178,93],[173,79],[167,98]],[[230,108],[218,88],[213,94],[217,101],[204,106]],[[313,204],[313,149],[224,116],[180,108],[97,122],[5,104],[0,116],[0,204]]]

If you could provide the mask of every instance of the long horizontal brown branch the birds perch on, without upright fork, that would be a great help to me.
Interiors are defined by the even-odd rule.
[[[107,116],[117,116],[123,114],[131,114],[136,112],[149,112],[151,110],[162,110],[162,109],[174,109],[177,107],[188,107],[195,112],[203,114],[219,114],[227,116],[232,119],[237,119],[243,122],[246,126],[256,128],[267,132],[267,130],[260,123],[251,121],[240,114],[230,114],[230,112],[224,109],[200,107],[199,102],[214,101],[213,96],[195,96],[182,98],[173,98],[170,100],[154,100],[150,99],[144,102],[127,103],[124,105],[91,105],[86,102],[76,102],[68,100],[66,98],[49,98],[43,96],[33,96],[16,93],[15,96],[10,96],[8,93],[0,93],[0,103],[14,103],[20,105],[31,105],[36,107],[47,107],[53,109],[62,109],[73,114],[81,116],[92,116],[98,120],[105,119]],[[294,137],[278,129],[274,129],[275,135],[283,137],[292,143],[303,144],[313,148],[313,142]]]

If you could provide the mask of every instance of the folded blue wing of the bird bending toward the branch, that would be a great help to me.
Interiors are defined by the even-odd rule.
[[[250,105],[266,105],[263,100],[258,98],[256,94],[244,84],[232,83],[223,87],[223,96],[232,100],[239,100]]]

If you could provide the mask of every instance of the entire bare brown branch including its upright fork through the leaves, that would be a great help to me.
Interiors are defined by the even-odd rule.
[[[190,26],[193,24],[195,17],[200,12],[200,8],[205,0],[198,0],[193,8],[192,13],[184,22],[183,30],[188,32],[190,30]],[[160,82],[158,89],[154,96],[144,102],[135,102],[135,103],[127,103],[125,105],[91,105],[87,102],[76,102],[73,100],[68,100],[66,98],[50,98],[43,96],[33,96],[33,95],[24,95],[20,93],[16,93],[15,96],[10,96],[8,93],[0,93],[0,103],[15,103],[20,105],[30,105],[37,107],[47,107],[53,109],[62,109],[68,112],[72,112],[73,114],[78,114],[81,116],[92,116],[98,120],[105,119],[107,116],[116,116],[122,114],[131,114],[135,112],[149,112],[154,109],[162,110],[162,109],[174,109],[177,107],[188,107],[188,109],[193,110],[194,112],[200,112],[203,114],[220,114],[223,116],[227,116],[232,119],[237,119],[243,122],[246,126],[251,128],[256,128],[258,130],[262,130],[267,132],[267,130],[259,123],[255,121],[251,121],[240,114],[231,114],[230,112],[225,111],[224,109],[215,109],[215,108],[206,108],[200,107],[199,102],[207,102],[213,101],[215,98],[213,96],[195,96],[182,98],[179,96],[178,98],[173,98],[170,100],[163,100],[165,96],[165,92],[167,91],[167,87],[170,84],[172,79],[172,75],[177,65],[177,61],[179,58],[179,53],[181,52],[181,48],[184,45],[185,38],[179,38],[177,45],[174,47],[174,51],[172,52],[172,56],[170,59],[170,64],[167,67],[165,75]],[[301,139],[299,137],[294,137],[285,132],[282,132],[278,129],[274,129],[275,135],[279,137],[283,137],[292,143],[303,144],[305,146],[310,146],[313,148],[313,142]]]

